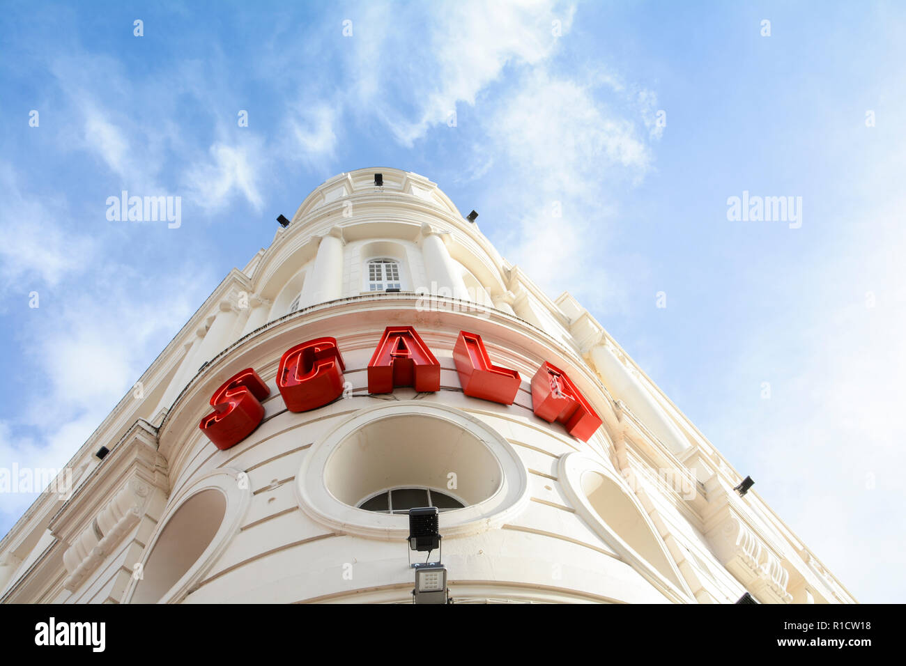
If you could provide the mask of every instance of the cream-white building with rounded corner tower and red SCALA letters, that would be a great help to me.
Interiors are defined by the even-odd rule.
[[[316,390],[280,390],[294,362]],[[233,430],[200,428],[246,369]],[[404,512],[431,504],[454,603],[854,603],[742,481],[434,183],[360,169],[226,275],[4,537],[0,599],[410,603],[431,555]]]

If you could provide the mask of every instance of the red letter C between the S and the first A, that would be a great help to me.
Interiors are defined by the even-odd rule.
[[[277,388],[286,409],[308,411],[342,395],[343,365],[336,338],[316,338],[286,350],[277,370]]]

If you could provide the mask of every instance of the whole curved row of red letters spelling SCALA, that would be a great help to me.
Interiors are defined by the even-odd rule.
[[[504,405],[516,400],[519,373],[493,365],[477,333],[459,332],[453,360],[467,396]],[[315,338],[286,350],[276,377],[286,409],[309,411],[335,401],[342,395],[345,369],[335,338]],[[440,363],[412,326],[388,326],[368,363],[369,393],[390,393],[398,386],[419,392],[440,390]],[[237,372],[214,391],[210,401],[214,411],[198,427],[217,449],[229,449],[264,419],[261,401],[270,393],[251,368]],[[562,423],[583,441],[601,425],[566,373],[547,362],[532,378],[532,410],[548,423]]]

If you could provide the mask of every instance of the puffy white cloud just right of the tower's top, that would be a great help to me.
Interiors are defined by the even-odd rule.
[[[621,298],[600,257],[621,188],[641,180],[652,157],[622,92],[586,78],[535,67],[493,103],[484,130],[487,152],[505,167],[493,196],[518,220],[500,243],[507,258],[548,294],[569,289],[596,309]]]

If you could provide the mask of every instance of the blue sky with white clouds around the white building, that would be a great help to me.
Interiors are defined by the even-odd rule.
[[[65,466],[277,215],[394,167],[899,601],[903,34],[883,2],[5,2],[0,468]],[[109,219],[122,190],[178,227]]]

